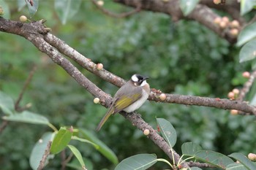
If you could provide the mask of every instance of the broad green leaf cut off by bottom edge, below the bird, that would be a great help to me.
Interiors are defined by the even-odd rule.
[[[121,161],[115,170],[143,170],[153,166],[154,163],[157,163],[157,155],[138,154]]]

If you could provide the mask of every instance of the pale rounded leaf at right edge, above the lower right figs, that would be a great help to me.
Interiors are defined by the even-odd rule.
[[[239,53],[239,62],[250,61],[256,57],[256,39],[247,42]]]

